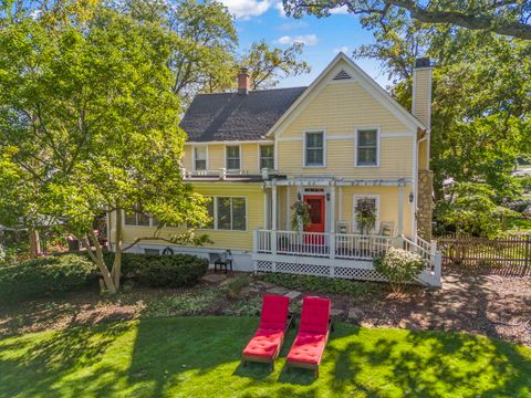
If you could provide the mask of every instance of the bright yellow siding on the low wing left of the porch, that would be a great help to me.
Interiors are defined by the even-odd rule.
[[[209,196],[241,196],[247,198],[247,231],[220,231],[201,230],[214,241],[210,247],[220,249],[252,250],[252,231],[263,228],[263,190],[261,184],[233,184],[233,182],[198,182],[194,185],[199,193]],[[111,238],[114,241],[114,218],[111,220]],[[154,232],[149,227],[124,226],[124,242],[133,242],[139,237],[149,237]],[[199,232],[201,232],[199,231]],[[160,233],[163,238],[169,238],[178,233],[178,228],[165,228]],[[154,243],[150,241],[149,243]],[[159,242],[165,244],[164,241]]]

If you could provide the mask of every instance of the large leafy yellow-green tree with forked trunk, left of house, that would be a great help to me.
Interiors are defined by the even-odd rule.
[[[206,199],[180,176],[173,38],[105,4],[17,12],[7,7],[1,20],[0,222],[64,219],[95,248],[87,253],[114,293],[124,212],[148,213],[160,228],[208,222]],[[93,231],[102,213],[117,216],[112,266]]]

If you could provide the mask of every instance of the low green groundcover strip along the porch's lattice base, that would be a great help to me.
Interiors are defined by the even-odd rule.
[[[375,285],[365,282],[354,282],[343,279],[333,279],[312,275],[291,275],[284,273],[266,273],[260,275],[266,282],[274,283],[288,289],[332,294],[344,294],[352,297],[364,296],[374,291]]]

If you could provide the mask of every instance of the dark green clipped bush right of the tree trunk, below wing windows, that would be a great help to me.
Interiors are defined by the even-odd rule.
[[[114,258],[110,254],[106,259],[107,264],[112,264]],[[152,287],[192,286],[207,270],[208,260],[190,254],[122,254],[122,275]]]

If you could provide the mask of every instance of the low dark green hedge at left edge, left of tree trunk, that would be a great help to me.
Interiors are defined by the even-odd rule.
[[[95,265],[76,254],[48,256],[0,268],[0,301],[52,296],[84,286]]]

